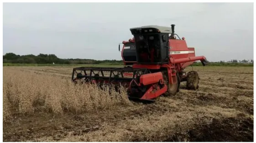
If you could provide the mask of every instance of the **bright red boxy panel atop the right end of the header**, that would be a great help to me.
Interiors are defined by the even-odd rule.
[[[140,83],[143,85],[149,85],[152,83],[157,83],[161,79],[163,79],[161,72],[149,73],[149,74],[141,75]]]

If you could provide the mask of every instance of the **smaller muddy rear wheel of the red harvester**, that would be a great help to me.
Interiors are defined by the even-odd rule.
[[[188,90],[197,90],[199,88],[199,76],[196,71],[190,71],[187,74],[187,85]]]

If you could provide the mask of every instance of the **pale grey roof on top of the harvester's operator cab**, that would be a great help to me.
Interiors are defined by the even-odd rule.
[[[171,27],[157,26],[157,25],[134,27],[134,28],[130,28],[130,31],[131,31],[132,34],[135,34],[135,33],[137,33],[136,31],[143,31],[143,30],[150,30],[150,29],[153,29],[154,31],[157,30],[158,33],[172,34],[172,28]],[[141,33],[141,32],[139,32],[139,33]]]

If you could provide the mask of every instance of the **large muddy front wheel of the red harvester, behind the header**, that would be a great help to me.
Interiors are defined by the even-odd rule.
[[[165,84],[167,85],[167,92],[164,94],[164,96],[174,96],[178,92],[179,88],[178,76],[176,76],[177,83],[175,84],[169,83],[167,73],[163,74],[163,79]]]

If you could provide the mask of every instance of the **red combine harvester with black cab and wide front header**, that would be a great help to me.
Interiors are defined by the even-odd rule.
[[[129,99],[147,101],[154,101],[161,95],[175,95],[180,82],[184,81],[187,82],[186,89],[198,89],[198,73],[190,71],[186,74],[183,70],[194,61],[201,61],[203,66],[208,61],[204,56],[195,56],[194,48],[188,48],[185,38],[180,39],[174,33],[175,25],[171,26],[131,28],[136,46],[136,62],[132,67],[73,68],[72,81],[114,84],[115,87],[122,85],[127,88]],[[123,54],[122,58],[124,60]]]

